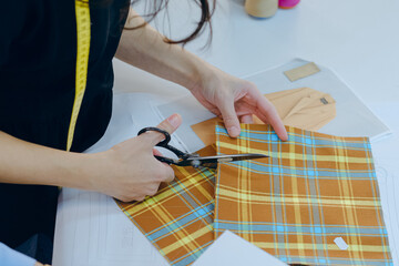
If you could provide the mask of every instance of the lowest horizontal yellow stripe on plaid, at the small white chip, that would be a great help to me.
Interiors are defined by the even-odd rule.
[[[305,250],[313,250],[316,246],[317,249],[325,249],[324,244],[308,244],[308,243],[270,243],[270,242],[253,242],[253,244],[259,248],[274,248],[275,245],[278,246],[278,248],[285,248],[288,246],[289,249],[298,249],[299,246],[304,247]],[[378,246],[378,245],[354,245],[348,243],[349,247],[348,250],[352,252],[367,252],[367,253],[386,253],[389,252],[389,248],[387,246]],[[328,250],[338,250],[342,252],[336,244],[328,245]]]

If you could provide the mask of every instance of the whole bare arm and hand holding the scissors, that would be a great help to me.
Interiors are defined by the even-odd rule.
[[[182,123],[174,114],[157,125],[172,134]],[[154,157],[156,132],[141,134],[108,151],[82,154],[28,143],[0,131],[0,183],[54,185],[95,191],[117,200],[143,201],[162,182],[171,182],[171,166]]]

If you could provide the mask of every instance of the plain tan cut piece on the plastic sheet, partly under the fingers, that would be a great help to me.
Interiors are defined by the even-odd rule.
[[[299,88],[265,94],[275,105],[285,125],[318,131],[336,116],[336,102],[328,94],[310,88]],[[223,122],[215,117],[192,125],[205,145],[215,143],[215,125]],[[263,122],[254,115],[255,124]]]

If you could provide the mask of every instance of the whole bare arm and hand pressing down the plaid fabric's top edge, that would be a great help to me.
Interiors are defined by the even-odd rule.
[[[130,11],[127,28],[144,22]],[[223,117],[231,136],[239,135],[239,120],[252,122],[252,114],[270,124],[282,140],[287,132],[273,104],[256,85],[239,80],[211,65],[176,44],[167,44],[164,37],[146,25],[123,31],[116,57],[136,68],[187,88],[211,112]]]

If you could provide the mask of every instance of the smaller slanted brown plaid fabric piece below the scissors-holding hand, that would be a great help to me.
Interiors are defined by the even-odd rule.
[[[198,154],[215,155],[215,147]],[[175,180],[155,196],[116,203],[171,265],[190,265],[214,241],[215,175],[209,168],[172,167]]]

